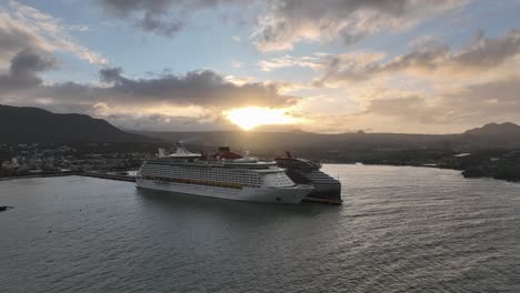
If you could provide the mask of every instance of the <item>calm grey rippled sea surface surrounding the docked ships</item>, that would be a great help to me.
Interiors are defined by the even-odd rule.
[[[0,182],[0,292],[520,292],[520,184],[323,169],[342,206]]]

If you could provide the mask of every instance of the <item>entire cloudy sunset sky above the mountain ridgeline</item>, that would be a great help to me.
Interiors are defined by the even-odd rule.
[[[518,0],[0,0],[0,104],[126,130],[520,123]]]

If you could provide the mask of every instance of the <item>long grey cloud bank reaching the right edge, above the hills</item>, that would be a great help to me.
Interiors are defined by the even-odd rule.
[[[497,38],[477,38],[459,51],[451,51],[441,41],[414,43],[412,50],[389,62],[357,62],[356,57],[327,57],[323,77],[318,84],[327,81],[370,79],[378,74],[411,72],[439,77],[452,74],[471,74],[493,70],[520,53],[520,30],[513,29]]]

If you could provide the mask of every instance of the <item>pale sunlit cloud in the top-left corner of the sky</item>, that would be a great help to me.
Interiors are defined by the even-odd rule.
[[[92,64],[107,64],[107,59],[74,42],[60,19],[32,7],[10,1],[0,7],[0,65],[23,48],[40,51],[66,51]]]

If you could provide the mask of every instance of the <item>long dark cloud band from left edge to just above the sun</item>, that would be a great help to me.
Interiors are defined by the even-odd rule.
[[[237,85],[210,70],[179,75],[169,73],[151,79],[129,79],[122,74],[120,68],[106,68],[100,70],[100,80],[104,83],[100,87],[76,82],[42,85],[36,73],[50,68],[52,63],[44,59],[32,60],[33,58],[34,55],[20,54],[13,62],[17,67],[2,77],[1,84],[8,87],[16,79],[24,80],[26,84],[18,84],[18,89],[24,85],[26,90],[17,94],[23,97],[18,100],[24,99],[26,104],[31,104],[38,99],[50,98],[52,102],[47,107],[59,109],[60,112],[64,109],[94,111],[94,105],[100,103],[119,109],[198,105],[219,112],[244,105],[280,108],[298,101],[296,97],[280,93],[282,84],[250,82]],[[31,78],[30,84],[27,78]],[[10,97],[12,95],[0,93],[0,99]]]

